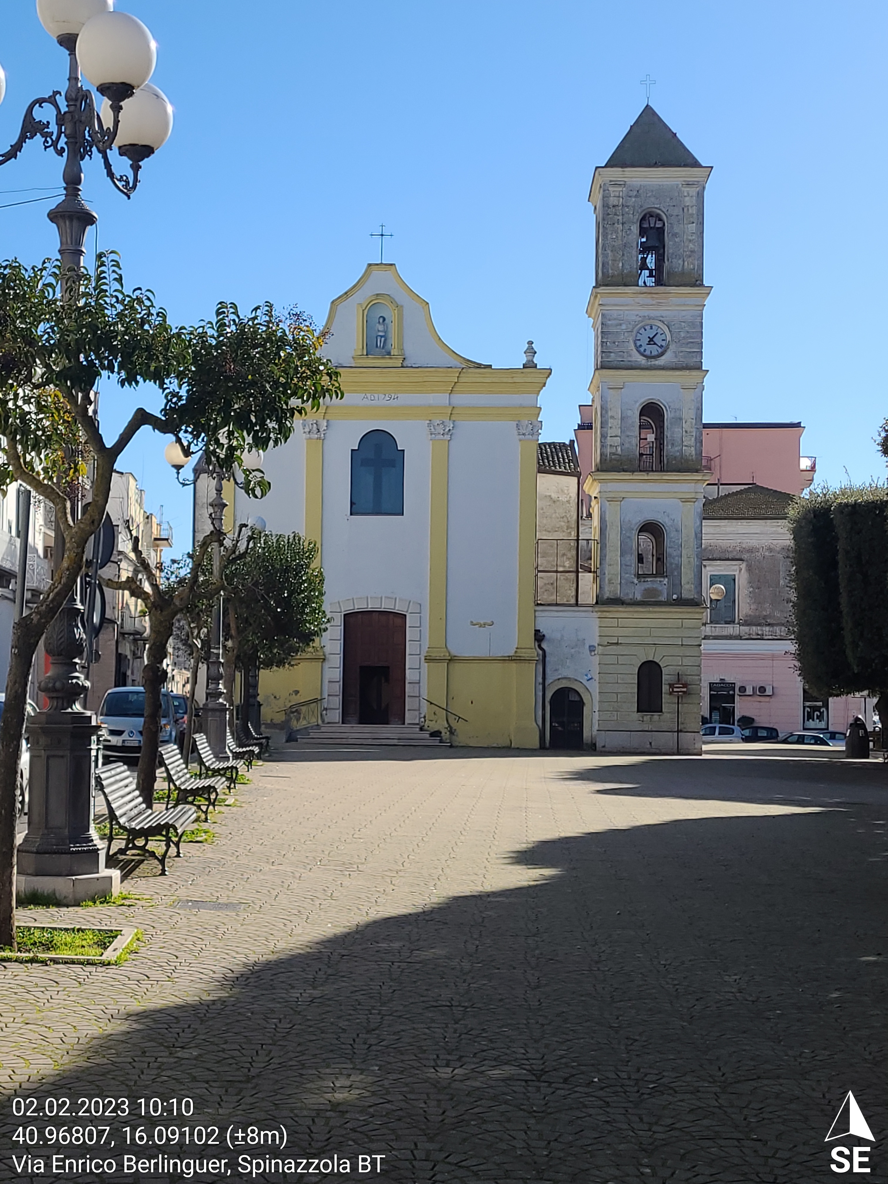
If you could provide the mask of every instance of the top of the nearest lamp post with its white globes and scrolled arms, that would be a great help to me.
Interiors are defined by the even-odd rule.
[[[37,15],[67,53],[67,89],[64,103],[58,90],[28,103],[19,137],[0,154],[0,166],[15,160],[30,140],[41,140],[64,159],[65,195],[47,217],[58,229],[63,284],[71,291],[70,274],[83,268],[86,232],[97,220],[82,195],[83,162],[97,153],[114,187],[130,198],[142,162],[169,137],[173,109],[148,84],[156,62],[152,34],[141,20],[115,12],[114,0],[37,0]],[[102,95],[101,110],[82,77]],[[0,102],[5,89],[0,70]],[[128,176],[115,173],[112,148],[129,161]]]

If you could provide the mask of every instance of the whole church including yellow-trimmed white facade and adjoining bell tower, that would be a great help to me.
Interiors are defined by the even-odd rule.
[[[229,487],[237,520],[314,539],[326,577],[329,629],[263,673],[266,720],[316,702],[461,745],[579,727],[604,752],[700,751],[708,175],[650,107],[596,169],[591,412],[580,458],[540,470],[558,506],[532,350],[463,358],[393,264],[333,301],[345,399],[266,456],[262,502]]]

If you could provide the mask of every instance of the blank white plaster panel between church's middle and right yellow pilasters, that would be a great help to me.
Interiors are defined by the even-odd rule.
[[[519,461],[513,422],[455,425],[448,502],[451,654],[503,656],[517,644]],[[472,620],[494,625],[477,629]]]

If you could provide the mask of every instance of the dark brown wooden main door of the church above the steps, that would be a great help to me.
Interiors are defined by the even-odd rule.
[[[404,723],[407,618],[347,612],[342,626],[342,722]]]

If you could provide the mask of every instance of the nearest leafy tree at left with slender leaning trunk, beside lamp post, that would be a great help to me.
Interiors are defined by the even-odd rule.
[[[282,444],[307,407],[341,395],[321,340],[298,314],[270,304],[243,315],[220,303],[212,321],[174,328],[150,291],[128,291],[116,256],[64,298],[58,263],[0,264],[0,487],[24,482],[56,510],[64,555],[49,588],[13,628],[6,703],[0,721],[0,945],[14,946],[15,786],[27,680],[44,632],[73,590],[86,546],[105,514],[111,474],[142,427],[174,436],[207,463],[231,471],[247,449]],[[160,392],[160,412],[136,407],[107,442],[94,418],[101,378]],[[72,484],[90,470],[90,504],[71,513]],[[244,472],[247,493],[269,488]]]

